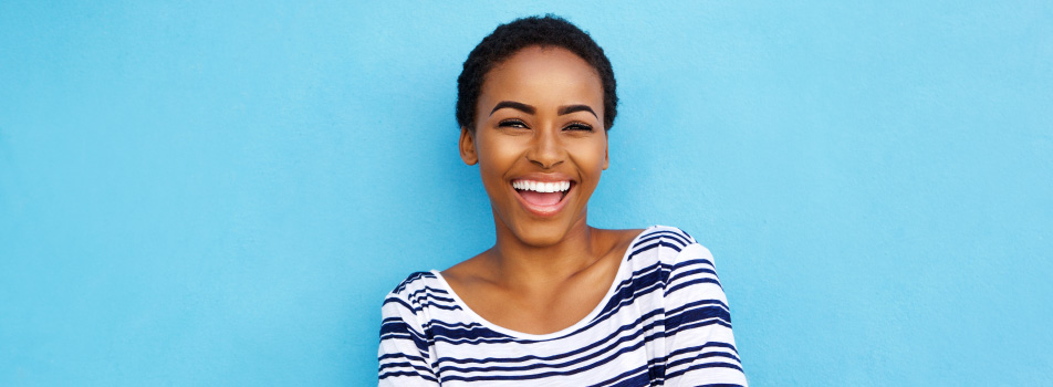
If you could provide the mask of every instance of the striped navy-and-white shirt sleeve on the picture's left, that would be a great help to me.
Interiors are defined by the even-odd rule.
[[[408,297],[398,293],[388,294],[380,307],[379,384],[386,386],[438,386],[431,368],[431,351],[424,324],[419,318],[421,308],[414,306]]]

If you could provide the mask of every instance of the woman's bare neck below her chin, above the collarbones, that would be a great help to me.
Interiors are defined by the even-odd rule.
[[[536,245],[524,242],[494,215],[497,243],[489,263],[496,281],[510,287],[535,287],[559,283],[595,263],[596,232],[585,217],[574,222],[557,242]]]

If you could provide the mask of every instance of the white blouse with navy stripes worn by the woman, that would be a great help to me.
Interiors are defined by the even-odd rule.
[[[709,250],[655,226],[633,240],[603,301],[533,335],[471,311],[442,275],[409,275],[384,300],[380,386],[746,386]]]

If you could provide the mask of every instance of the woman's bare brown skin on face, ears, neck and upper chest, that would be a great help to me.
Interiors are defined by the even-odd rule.
[[[497,242],[442,272],[453,292],[499,326],[546,334],[572,326],[603,301],[640,230],[586,223],[588,198],[608,166],[603,87],[596,71],[560,48],[529,46],[491,70],[461,158],[479,165]],[[569,179],[565,206],[529,211],[511,181]]]

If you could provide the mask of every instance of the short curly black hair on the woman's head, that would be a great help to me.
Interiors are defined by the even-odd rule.
[[[603,126],[611,130],[614,116],[618,113],[618,94],[611,61],[587,32],[553,14],[521,18],[498,25],[471,50],[457,77],[457,123],[469,130],[476,129],[476,104],[487,73],[520,50],[533,45],[566,49],[596,70],[603,85]]]

